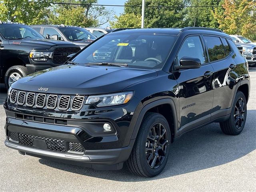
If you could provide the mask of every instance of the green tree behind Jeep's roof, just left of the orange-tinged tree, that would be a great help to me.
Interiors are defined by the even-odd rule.
[[[214,18],[214,7],[202,6],[221,6],[223,0],[189,0],[186,5],[186,21],[188,26],[218,28],[218,21]],[[195,7],[199,6],[199,7]],[[223,8],[216,8],[218,12],[223,12]]]

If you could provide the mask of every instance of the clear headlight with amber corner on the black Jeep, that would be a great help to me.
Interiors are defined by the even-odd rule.
[[[86,99],[86,104],[96,104],[97,107],[126,104],[131,100],[132,96],[133,92],[94,95]]]

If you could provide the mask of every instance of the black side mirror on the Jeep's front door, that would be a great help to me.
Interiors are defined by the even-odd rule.
[[[175,69],[196,69],[200,68],[201,61],[195,57],[182,57],[180,59],[180,65],[174,66]]]

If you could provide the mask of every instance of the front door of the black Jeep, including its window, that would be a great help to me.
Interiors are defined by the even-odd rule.
[[[179,134],[210,121],[213,102],[213,68],[205,54],[202,37],[188,36],[176,56],[195,57],[201,61],[200,68],[174,72],[179,87]]]

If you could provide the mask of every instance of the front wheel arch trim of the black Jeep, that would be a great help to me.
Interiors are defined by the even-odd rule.
[[[171,111],[166,113],[168,110],[171,110]],[[176,106],[172,99],[163,98],[143,106],[142,110],[140,110],[140,114],[138,115],[136,124],[134,126],[134,131],[132,133],[131,140],[136,139],[136,136],[140,129],[140,125],[142,124],[142,120],[145,117],[147,112],[157,112],[159,114],[162,114],[166,118],[169,124],[171,134],[172,134],[172,141],[174,140],[173,138],[177,137],[178,118],[177,118]]]

